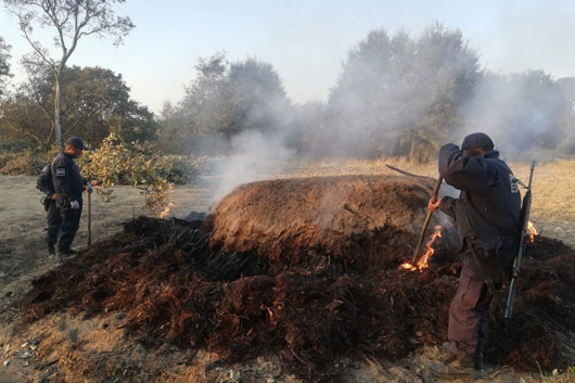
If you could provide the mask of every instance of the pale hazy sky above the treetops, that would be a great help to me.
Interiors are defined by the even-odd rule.
[[[295,102],[325,101],[347,52],[370,30],[417,37],[435,21],[460,28],[488,71],[575,77],[575,0],[127,0],[115,9],[136,24],[124,44],[89,37],[69,64],[122,74],[131,97],[154,112],[181,100],[197,58],[218,51],[232,61],[270,63]],[[12,46],[17,81],[18,61],[30,48],[3,8],[0,36]]]

